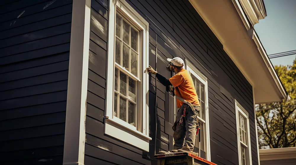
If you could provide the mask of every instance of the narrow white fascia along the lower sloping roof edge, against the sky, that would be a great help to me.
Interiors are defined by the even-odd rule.
[[[279,94],[282,95],[282,99],[285,100],[289,100],[289,95],[287,94],[286,90],[284,89],[284,86],[281,84],[281,81],[279,80],[279,76],[276,74],[276,71],[274,70],[274,67],[272,66],[268,55],[266,54],[260,40],[259,37],[257,36],[255,29],[250,29],[248,31],[248,34],[250,36],[251,39],[253,39],[255,41],[255,44],[257,45],[258,51],[268,69],[268,71],[270,72],[270,75],[272,77],[272,79],[274,80],[274,82],[277,85],[277,88],[279,89]]]

